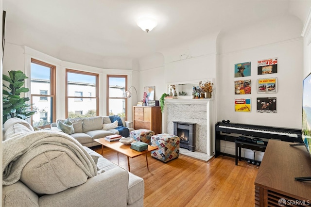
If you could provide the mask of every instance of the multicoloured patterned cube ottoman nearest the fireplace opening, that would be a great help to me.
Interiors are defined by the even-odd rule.
[[[151,157],[163,162],[179,157],[179,137],[170,134],[156,134],[151,137],[151,145],[158,149],[151,152]]]

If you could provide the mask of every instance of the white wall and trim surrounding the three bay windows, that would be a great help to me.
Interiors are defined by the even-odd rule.
[[[69,63],[54,57],[51,57],[47,54],[44,54],[40,51],[37,51],[32,48],[22,47],[11,43],[5,44],[3,58],[3,73],[7,74],[7,71],[10,70],[21,70],[26,76],[30,77],[30,63],[31,58],[46,62],[56,66],[56,119],[65,118],[65,77],[66,77],[66,68],[76,69],[80,71],[92,72],[99,74],[99,114],[106,115],[106,87],[107,87],[107,74],[110,75],[127,75],[128,76],[128,87],[132,83],[132,70],[129,69],[105,69],[97,68],[88,65]],[[30,88],[30,80],[25,80],[25,87]],[[26,95],[30,97],[30,94]],[[131,120],[131,110],[132,104],[129,101],[128,104],[128,113],[129,120]],[[27,120],[28,121],[28,120]]]

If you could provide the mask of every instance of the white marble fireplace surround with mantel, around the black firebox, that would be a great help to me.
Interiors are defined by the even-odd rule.
[[[207,161],[213,156],[213,99],[165,99],[162,128],[173,134],[173,121],[196,123],[195,152],[180,148],[180,153]]]

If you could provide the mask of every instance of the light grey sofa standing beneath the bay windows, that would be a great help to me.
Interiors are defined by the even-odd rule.
[[[127,127],[129,131],[134,130],[134,128],[131,128],[130,126],[131,123],[126,122],[124,118],[125,117],[121,117],[122,125]],[[103,138],[112,134],[119,134],[119,131],[114,128],[108,127],[109,129],[103,129],[104,126],[110,126],[112,124],[109,116],[71,118],[69,120],[72,122],[74,128],[74,133],[69,135],[76,139],[83,146],[90,147],[100,145],[99,143],[94,142],[94,139]],[[56,123],[52,123],[51,128],[57,130],[59,121],[65,122],[66,119],[58,119]]]

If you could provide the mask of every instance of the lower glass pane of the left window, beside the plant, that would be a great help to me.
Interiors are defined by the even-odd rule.
[[[39,101],[41,97],[33,96],[33,109],[37,112],[32,116],[33,126],[40,127],[51,124],[52,97],[44,97],[46,101]]]

